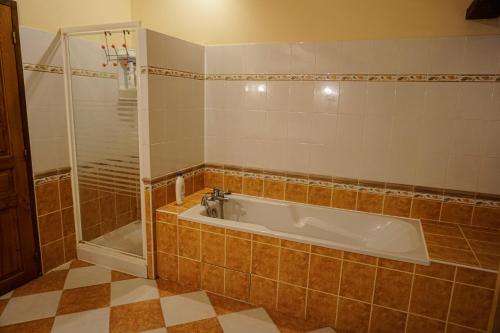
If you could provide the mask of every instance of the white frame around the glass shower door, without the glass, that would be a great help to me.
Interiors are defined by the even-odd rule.
[[[73,108],[73,90],[72,90],[72,73],[69,53],[69,40],[70,37],[95,35],[103,33],[104,31],[121,32],[126,29],[134,32],[136,35],[136,63],[140,64],[142,59],[141,52],[137,52],[141,43],[139,42],[139,30],[141,28],[140,22],[123,22],[102,25],[90,25],[81,27],[62,28],[60,30],[60,38],[63,53],[63,68],[64,68],[64,88],[66,96],[66,125],[68,130],[68,146],[70,152],[70,167],[71,167],[71,188],[73,192],[73,210],[75,217],[75,230],[77,238],[77,256],[96,264],[100,264],[115,270],[123,271],[133,275],[146,277],[147,276],[147,244],[146,244],[146,207],[145,207],[145,186],[141,179],[144,178],[144,167],[148,165],[144,160],[146,154],[143,151],[143,131],[147,131],[147,124],[143,124],[143,117],[141,117],[140,110],[143,103],[140,87],[141,75],[140,69],[136,68],[136,90],[137,90],[137,127],[138,127],[138,140],[139,140],[139,185],[140,185],[140,202],[141,202],[141,229],[142,229],[142,256],[132,253],[127,253],[117,249],[106,246],[94,244],[90,241],[85,241],[82,238],[82,226],[80,215],[80,191],[78,181],[78,168],[77,168],[77,148],[75,138],[75,123],[74,123],[74,108]]]

